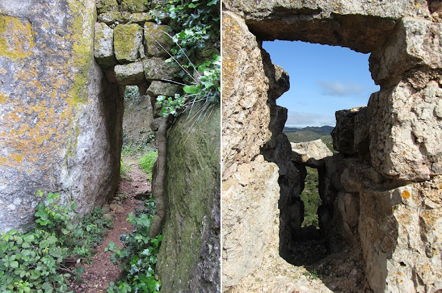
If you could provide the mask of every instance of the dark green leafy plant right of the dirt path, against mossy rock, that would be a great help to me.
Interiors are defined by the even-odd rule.
[[[162,235],[148,237],[155,203],[153,199],[144,202],[144,208],[135,209],[128,215],[127,221],[133,224],[133,232],[121,235],[123,249],[110,242],[105,251],[112,251],[110,260],[124,270],[123,277],[117,283],[111,282],[108,292],[159,292],[161,282],[155,274],[157,254],[160,249]]]

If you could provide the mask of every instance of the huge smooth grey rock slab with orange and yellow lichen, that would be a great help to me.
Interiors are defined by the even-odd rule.
[[[93,0],[0,2],[0,231],[33,221],[36,190],[87,212],[117,187],[122,101],[95,18]]]

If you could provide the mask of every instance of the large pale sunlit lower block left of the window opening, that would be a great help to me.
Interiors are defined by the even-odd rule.
[[[278,242],[278,166],[260,155],[237,168],[223,181],[223,290],[259,268]]]

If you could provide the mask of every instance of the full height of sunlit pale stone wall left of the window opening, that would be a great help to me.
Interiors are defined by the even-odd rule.
[[[237,15],[223,12],[223,291],[278,255],[278,167],[260,147],[270,139],[269,80],[261,50]]]

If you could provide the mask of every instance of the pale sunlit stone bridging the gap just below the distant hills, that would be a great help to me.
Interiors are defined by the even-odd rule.
[[[325,165],[324,158],[333,156],[332,151],[328,149],[322,140],[299,143],[290,142],[290,145],[293,160],[312,168],[323,167]]]

